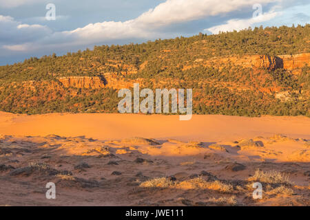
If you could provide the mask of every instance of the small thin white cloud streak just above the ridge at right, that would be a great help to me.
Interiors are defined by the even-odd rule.
[[[268,12],[251,19],[231,19],[223,25],[207,28],[206,30],[208,30],[212,34],[218,34],[218,32],[232,32],[234,30],[239,31],[245,28],[249,28],[251,27],[251,25],[254,25],[255,23],[269,21],[270,19],[273,19],[279,14],[280,12]]]

